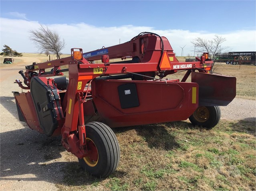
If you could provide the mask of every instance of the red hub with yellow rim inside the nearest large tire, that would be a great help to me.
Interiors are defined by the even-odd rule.
[[[90,138],[86,138],[88,156],[84,157],[85,163],[87,163],[90,167],[95,167],[99,161],[99,155],[97,147],[95,146],[94,142]]]

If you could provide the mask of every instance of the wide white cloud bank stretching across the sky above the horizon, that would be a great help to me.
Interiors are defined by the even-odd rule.
[[[15,20],[0,18],[1,22],[1,43],[10,46],[18,52],[38,52],[34,44],[28,39],[29,30],[39,27],[36,21]],[[181,55],[181,48],[184,45],[183,55],[194,55],[194,47],[191,40],[196,37],[212,38],[216,33],[206,31],[190,32],[188,30],[156,30],[147,26],[117,26],[117,27],[96,27],[85,23],[79,24],[52,24],[50,29],[57,30],[66,41],[66,47],[62,53],[70,53],[73,47],[83,48],[84,52],[93,51],[103,46],[108,47],[129,41],[140,32],[154,32],[167,37],[171,47],[177,55]],[[255,51],[256,50],[256,31],[240,30],[230,33],[218,33],[227,39],[223,43],[229,46],[232,51]]]

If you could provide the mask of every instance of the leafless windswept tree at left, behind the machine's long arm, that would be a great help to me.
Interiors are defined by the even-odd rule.
[[[60,39],[60,35],[56,30],[50,30],[47,26],[40,24],[38,30],[30,30],[29,39],[32,40],[41,53],[45,51],[56,54],[60,59],[60,51],[65,47],[64,39]]]

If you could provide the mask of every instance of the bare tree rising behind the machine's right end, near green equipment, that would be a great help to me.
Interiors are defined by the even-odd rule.
[[[204,39],[197,37],[191,43],[195,46],[196,52],[203,53],[208,52],[209,58],[214,62],[212,65],[212,71],[214,71],[215,59],[218,53],[222,53],[224,50],[229,47],[222,46],[222,43],[226,41],[226,38],[215,35],[213,39]]]

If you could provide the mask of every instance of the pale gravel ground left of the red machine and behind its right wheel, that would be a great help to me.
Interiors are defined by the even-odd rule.
[[[18,71],[28,63],[40,62],[34,57],[19,59],[0,64],[0,190],[58,190],[55,184],[61,183],[65,167],[77,161],[62,147],[60,137],[48,138],[18,120],[12,91],[21,89],[13,82],[21,79]],[[235,98],[221,110],[222,119],[255,121],[256,101]]]

